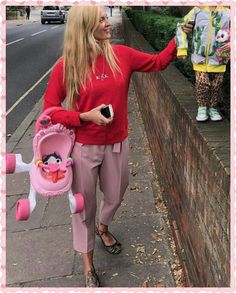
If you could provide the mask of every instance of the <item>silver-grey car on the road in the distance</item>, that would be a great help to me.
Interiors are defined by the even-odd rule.
[[[41,23],[45,24],[47,21],[60,21],[64,23],[67,19],[67,11],[64,6],[44,6],[41,11]]]

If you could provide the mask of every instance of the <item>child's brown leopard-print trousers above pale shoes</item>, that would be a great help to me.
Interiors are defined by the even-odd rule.
[[[216,107],[222,94],[224,72],[195,71],[198,106]]]

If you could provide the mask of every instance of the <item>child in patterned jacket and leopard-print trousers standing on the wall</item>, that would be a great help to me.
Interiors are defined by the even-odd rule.
[[[177,57],[183,59],[187,56],[188,48],[187,35],[182,30],[186,23],[194,26],[191,60],[196,77],[196,120],[203,122],[210,118],[212,121],[221,121],[217,104],[221,99],[224,72],[229,58],[219,58],[217,53],[220,51],[222,55],[228,56],[230,41],[227,39],[219,48],[218,38],[229,36],[230,9],[224,6],[194,7],[177,24]]]

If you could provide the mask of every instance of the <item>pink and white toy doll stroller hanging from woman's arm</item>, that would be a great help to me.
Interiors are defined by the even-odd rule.
[[[75,133],[61,124],[51,123],[50,113],[61,109],[52,107],[44,111],[36,121],[33,139],[34,158],[31,163],[22,161],[21,154],[6,155],[6,172],[30,174],[30,192],[27,199],[20,199],[16,204],[16,219],[27,220],[36,206],[36,193],[43,196],[62,196],[67,192],[72,214],[84,209],[84,197],[78,193],[73,195],[73,180],[70,157]]]

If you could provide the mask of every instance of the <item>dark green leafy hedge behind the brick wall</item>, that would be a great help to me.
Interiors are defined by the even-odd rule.
[[[164,49],[171,38],[175,36],[176,24],[180,18],[134,10],[130,7],[124,7],[123,9],[137,31],[139,31],[157,51]],[[189,44],[191,44],[191,40]],[[189,48],[189,58],[184,61],[176,60],[173,63],[190,82],[194,83],[195,77],[190,60],[190,51],[191,48]],[[227,65],[223,85],[223,97],[219,106],[226,118],[230,119],[230,65]]]

